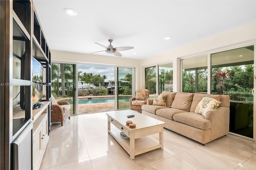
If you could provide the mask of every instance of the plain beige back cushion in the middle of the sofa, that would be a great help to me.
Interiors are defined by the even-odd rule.
[[[172,108],[189,111],[192,99],[193,93],[176,93],[172,102]]]

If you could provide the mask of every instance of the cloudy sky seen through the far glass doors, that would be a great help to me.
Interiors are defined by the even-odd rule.
[[[92,73],[92,74],[100,74],[100,76],[106,75],[107,79],[105,81],[114,80],[114,77],[115,77],[114,66],[78,64],[78,71],[82,71],[82,73],[86,72],[86,73]],[[127,74],[127,69],[120,69],[119,80],[124,78],[126,74]]]

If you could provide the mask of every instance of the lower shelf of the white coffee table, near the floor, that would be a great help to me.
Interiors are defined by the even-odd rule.
[[[111,126],[111,130],[108,130],[110,135],[116,139],[116,141],[126,150],[126,152],[130,155],[131,159],[134,159],[134,156],[148,152],[150,150],[154,149],[162,149],[162,144],[159,143],[158,140],[156,140],[154,137],[151,136],[145,136],[140,137],[138,139],[134,140],[134,154],[132,154],[131,146],[130,146],[130,139],[124,139],[120,135],[120,130],[115,127]]]

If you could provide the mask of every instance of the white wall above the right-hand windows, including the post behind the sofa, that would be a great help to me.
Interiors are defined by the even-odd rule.
[[[176,49],[172,49],[165,53],[161,53],[141,61],[143,76],[144,68],[148,66],[154,66],[158,63],[170,63],[173,62],[173,82],[174,82],[174,92],[179,92],[179,58],[184,57],[196,57],[198,55],[207,55],[208,53],[213,53],[217,51],[225,51],[228,49],[238,48],[240,46],[245,46],[247,44],[256,43],[256,23],[250,23],[242,27],[238,27]],[[161,59],[161,60],[160,60]],[[144,86],[144,82],[142,82]]]

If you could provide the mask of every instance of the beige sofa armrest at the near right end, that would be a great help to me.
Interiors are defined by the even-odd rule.
[[[212,123],[211,140],[229,133],[229,112],[229,107],[218,107],[206,113],[205,119]]]

